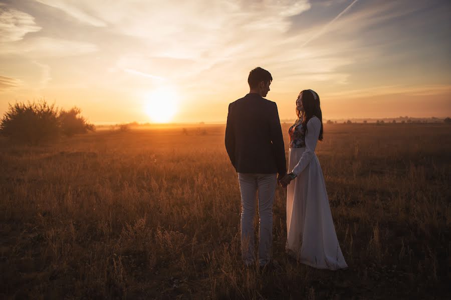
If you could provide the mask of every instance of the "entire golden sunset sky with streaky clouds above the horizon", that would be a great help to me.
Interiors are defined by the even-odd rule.
[[[249,71],[281,119],[451,116],[449,0],[0,0],[0,114],[45,98],[89,121],[225,122]],[[161,111],[160,111],[161,110]]]

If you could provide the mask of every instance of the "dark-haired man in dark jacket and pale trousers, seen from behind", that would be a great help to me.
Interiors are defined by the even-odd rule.
[[[261,67],[249,73],[249,93],[230,103],[225,148],[238,172],[241,191],[241,249],[246,265],[254,255],[255,199],[259,194],[259,264],[271,260],[273,201],[277,180],[288,176],[285,146],[275,102],[265,97],[273,77]],[[277,178],[279,173],[279,178]]]

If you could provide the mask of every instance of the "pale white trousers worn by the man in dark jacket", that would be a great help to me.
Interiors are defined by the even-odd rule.
[[[241,191],[241,250],[245,264],[255,261],[254,214],[257,190],[259,192],[259,263],[271,259],[273,243],[273,202],[277,186],[277,173],[238,173]]]

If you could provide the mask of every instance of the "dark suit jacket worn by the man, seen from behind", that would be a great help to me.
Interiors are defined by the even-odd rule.
[[[229,104],[225,148],[237,172],[287,172],[276,102],[249,93]]]

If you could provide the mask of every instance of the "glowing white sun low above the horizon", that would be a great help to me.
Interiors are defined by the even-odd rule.
[[[145,96],[145,111],[155,123],[170,122],[177,112],[177,100],[174,87],[158,87]]]

